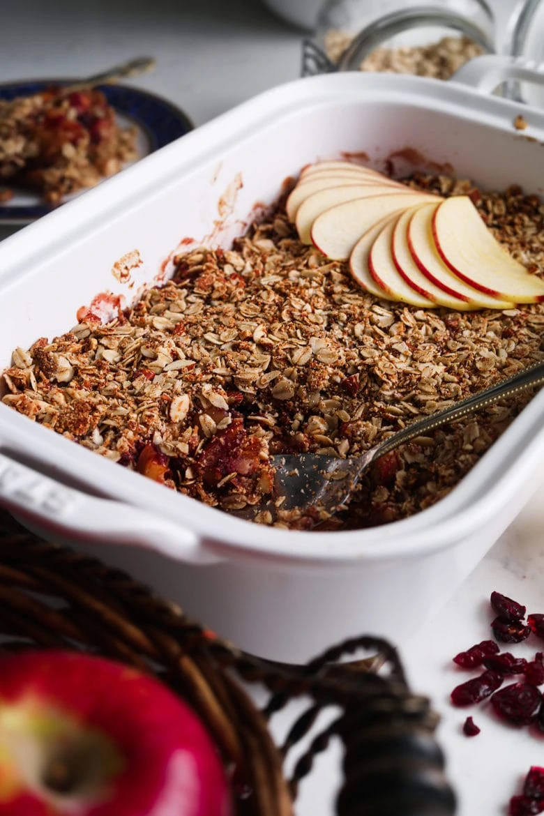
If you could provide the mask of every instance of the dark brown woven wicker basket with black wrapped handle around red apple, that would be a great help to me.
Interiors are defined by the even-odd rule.
[[[420,742],[424,738],[436,745],[432,736],[436,716],[430,703],[409,691],[396,650],[386,641],[369,636],[353,639],[305,667],[255,658],[207,632],[179,606],[163,601],[121,570],[46,543],[2,511],[0,635],[2,650],[37,646],[85,650],[159,677],[206,723],[225,767],[232,771],[237,816],[291,816],[300,781],[311,773],[316,755],[333,738],[342,739],[346,749],[338,814],[453,814],[453,794],[437,751],[423,769],[412,762],[412,777],[418,781],[405,786],[408,809],[397,801],[394,810],[388,809],[383,796],[380,800],[373,793],[379,768],[376,777],[372,763],[360,759],[365,753],[361,754],[361,734],[371,736],[377,727],[386,733],[393,725],[407,744],[415,734]],[[361,648],[373,650],[378,659],[336,663]],[[369,671],[382,664],[389,669],[387,675]],[[263,712],[240,681],[259,681],[268,688],[271,696]],[[301,696],[308,699],[307,710],[278,748],[268,719]],[[317,716],[331,705],[341,707],[340,716],[321,732],[310,734]],[[309,744],[287,779],[284,761],[305,738]],[[405,763],[400,771],[410,779],[407,767]],[[421,781],[422,770],[427,782]],[[435,811],[421,809],[421,790],[425,800],[436,803]],[[373,796],[377,810],[367,808],[374,807]]]

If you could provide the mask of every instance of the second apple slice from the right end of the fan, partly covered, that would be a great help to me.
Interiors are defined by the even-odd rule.
[[[465,300],[467,308],[511,308],[512,301],[500,299],[475,289],[453,274],[440,258],[432,235],[432,222],[439,204],[418,207],[406,231],[410,254],[428,281],[446,295]],[[480,218],[480,215],[478,215]],[[485,224],[482,224],[485,229]],[[458,227],[462,229],[462,226]],[[400,242],[402,236],[400,236]],[[542,286],[544,290],[544,285]],[[514,301],[516,302],[516,301]]]

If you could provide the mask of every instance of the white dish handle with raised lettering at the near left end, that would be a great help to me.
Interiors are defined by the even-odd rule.
[[[68,542],[130,544],[192,564],[221,561],[196,534],[172,521],[65,486],[2,453],[0,503]]]

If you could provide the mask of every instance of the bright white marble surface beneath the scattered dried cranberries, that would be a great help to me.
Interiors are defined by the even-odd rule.
[[[544,765],[542,737],[533,730],[500,723],[489,702],[467,709],[454,708],[449,702],[455,685],[479,673],[458,669],[452,658],[492,636],[489,623],[494,615],[489,596],[493,590],[519,600],[529,612],[544,612],[544,470],[542,475],[542,485],[537,486],[520,517],[440,614],[400,650],[412,688],[427,694],[440,713],[437,738],[446,754],[449,780],[458,796],[458,816],[506,816],[508,802],[521,792],[529,767]],[[529,659],[541,648],[542,641],[530,636],[527,643],[503,645],[502,651]],[[511,678],[508,682],[515,680]],[[290,712],[299,709],[300,706],[293,706]],[[278,733],[285,730],[287,713],[278,717]],[[474,717],[481,729],[474,738],[462,734],[462,724],[468,715]],[[332,816],[340,779],[340,756],[339,746],[333,744],[317,761],[316,773],[303,781],[299,816]]]

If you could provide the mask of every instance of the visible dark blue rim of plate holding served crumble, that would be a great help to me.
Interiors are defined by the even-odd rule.
[[[66,85],[70,82],[78,80],[6,82],[0,84],[0,99],[12,100],[15,96],[30,96],[43,91],[47,86]],[[126,85],[101,85],[99,89],[117,113],[119,123],[125,126],[133,124],[138,128],[136,147],[140,158],[192,131],[192,122],[185,113],[160,96]],[[9,187],[9,182],[6,185]],[[66,200],[83,193],[85,190],[73,193]],[[42,202],[38,193],[15,188],[15,196],[9,202],[0,203],[0,224],[29,224],[46,215],[51,209],[51,205]]]

